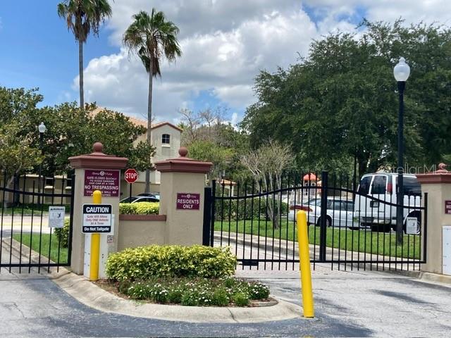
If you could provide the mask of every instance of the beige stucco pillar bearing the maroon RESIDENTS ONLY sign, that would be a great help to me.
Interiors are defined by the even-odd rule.
[[[160,211],[166,215],[165,244],[202,244],[204,220],[205,175],[213,163],[187,158],[187,149],[180,148],[180,157],[155,163],[161,173]],[[199,208],[183,208],[180,196],[199,194]],[[179,200],[179,201],[178,201]]]

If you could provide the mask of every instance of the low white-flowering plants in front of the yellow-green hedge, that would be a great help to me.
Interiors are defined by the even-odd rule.
[[[118,292],[136,300],[183,306],[249,306],[266,301],[269,289],[261,282],[235,277],[151,278],[145,281],[117,283]]]

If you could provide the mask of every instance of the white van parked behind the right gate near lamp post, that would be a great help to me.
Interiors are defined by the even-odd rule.
[[[421,229],[421,185],[416,176],[404,174],[403,224],[406,232],[409,220],[409,233],[419,234]],[[354,200],[354,230],[371,228],[372,231],[390,232],[396,230],[397,174],[373,173],[362,176]],[[373,199],[371,198],[373,197]],[[393,205],[390,205],[393,204]]]

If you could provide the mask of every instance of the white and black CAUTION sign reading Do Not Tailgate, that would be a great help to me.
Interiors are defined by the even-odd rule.
[[[83,204],[84,234],[111,232],[111,204]]]

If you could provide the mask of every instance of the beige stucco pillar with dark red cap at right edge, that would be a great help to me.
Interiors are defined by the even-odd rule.
[[[445,201],[451,201],[451,173],[445,167],[440,163],[439,170],[417,175],[421,192],[428,194],[426,264],[421,267],[426,273],[443,274],[443,256],[451,255],[451,247],[443,251],[443,228],[451,226],[451,213],[445,208]]]

